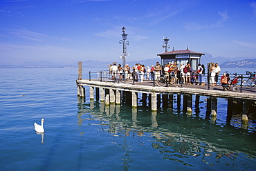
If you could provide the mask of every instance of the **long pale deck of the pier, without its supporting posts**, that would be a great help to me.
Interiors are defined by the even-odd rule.
[[[127,81],[123,83],[120,81],[117,82],[104,82],[98,80],[86,80],[81,79],[77,80],[77,86],[91,86],[91,87],[102,87],[102,88],[111,88],[113,90],[125,90],[132,92],[143,92],[143,93],[152,93],[156,94],[199,94],[202,96],[210,96],[210,97],[221,97],[221,98],[234,98],[234,99],[248,99],[248,100],[256,100],[256,88],[255,87],[243,87],[242,92],[240,90],[223,91],[222,86],[210,86],[210,90],[208,90],[208,85],[198,86],[198,85],[186,85],[183,84],[183,87],[174,87],[172,85],[168,87],[159,87],[157,85],[154,86],[154,82],[151,80],[145,80],[142,83],[133,81]]]

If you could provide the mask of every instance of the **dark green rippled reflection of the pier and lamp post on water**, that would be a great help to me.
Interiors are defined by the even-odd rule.
[[[127,137],[146,136],[152,149],[158,150],[162,159],[194,167],[198,163],[216,166],[218,169],[234,167],[247,170],[256,168],[255,132],[217,124],[217,117],[199,112],[183,114],[181,110],[168,109],[151,112],[147,108],[129,108],[104,103],[78,103],[77,123],[100,121],[102,130],[123,138],[124,170],[133,161],[130,152],[135,146],[127,145]],[[104,121],[104,123],[102,123]],[[103,128],[104,126],[104,128]],[[215,169],[217,169],[215,168]]]

